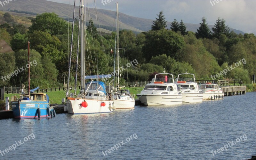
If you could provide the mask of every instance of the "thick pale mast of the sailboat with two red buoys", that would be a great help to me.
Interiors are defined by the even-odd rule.
[[[80,43],[81,43],[81,90],[84,90],[84,0],[81,4],[81,18],[80,18]]]

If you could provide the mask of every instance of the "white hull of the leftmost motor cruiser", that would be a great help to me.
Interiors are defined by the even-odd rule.
[[[143,105],[179,105],[182,103],[181,94],[172,95],[138,95]]]

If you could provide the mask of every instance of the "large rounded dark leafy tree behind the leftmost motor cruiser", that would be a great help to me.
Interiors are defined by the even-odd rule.
[[[183,48],[184,45],[183,37],[171,30],[149,31],[146,34],[142,52],[147,61],[152,56],[161,54],[176,58],[177,51]]]

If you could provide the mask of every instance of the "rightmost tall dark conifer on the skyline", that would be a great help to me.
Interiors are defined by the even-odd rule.
[[[225,34],[227,37],[229,37],[229,27],[226,26],[225,20],[222,18],[218,18],[216,23],[214,24],[214,27],[212,27],[212,36],[219,39],[221,34]]]

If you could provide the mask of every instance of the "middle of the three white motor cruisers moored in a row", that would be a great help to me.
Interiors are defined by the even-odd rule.
[[[193,77],[180,77],[181,75],[192,75]],[[195,75],[190,73],[179,74],[175,83],[182,89],[182,101],[186,103],[202,102],[203,92],[196,83]]]

